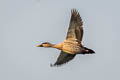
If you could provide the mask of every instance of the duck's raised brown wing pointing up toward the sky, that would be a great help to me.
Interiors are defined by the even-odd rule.
[[[66,39],[77,39],[82,41],[83,37],[83,22],[79,13],[73,9],[71,10],[71,20],[67,32]]]

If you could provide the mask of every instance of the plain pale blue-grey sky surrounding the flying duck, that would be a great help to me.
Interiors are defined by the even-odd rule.
[[[51,68],[60,51],[35,45],[62,42],[72,8],[96,54]],[[0,0],[0,80],[120,80],[119,41],[119,0]]]

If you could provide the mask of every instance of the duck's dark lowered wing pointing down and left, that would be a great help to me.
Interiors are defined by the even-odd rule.
[[[69,62],[70,60],[72,60],[75,57],[75,55],[76,54],[68,54],[68,53],[61,51],[57,61],[53,65],[51,64],[51,66],[59,66],[59,65],[65,64]]]

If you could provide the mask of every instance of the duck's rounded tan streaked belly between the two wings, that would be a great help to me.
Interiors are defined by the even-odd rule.
[[[77,44],[72,44],[72,43],[67,44],[66,43],[63,46],[63,51],[67,52],[69,54],[76,54],[76,53],[79,53],[81,51],[81,47]]]

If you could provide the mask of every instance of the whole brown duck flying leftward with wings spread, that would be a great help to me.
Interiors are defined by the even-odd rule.
[[[51,66],[60,66],[72,60],[77,54],[93,54],[92,49],[82,45],[83,22],[76,9],[71,10],[71,19],[66,39],[59,44],[44,42],[37,47],[56,48],[61,50],[57,61]]]

